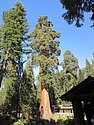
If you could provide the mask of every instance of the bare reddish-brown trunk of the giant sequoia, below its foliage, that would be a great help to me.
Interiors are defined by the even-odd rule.
[[[42,119],[50,120],[52,117],[49,94],[47,89],[43,86],[41,86],[41,93],[40,93],[40,113]]]

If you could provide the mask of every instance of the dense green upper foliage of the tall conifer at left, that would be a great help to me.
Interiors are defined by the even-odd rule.
[[[26,39],[25,34],[28,26],[25,16],[26,11],[19,2],[15,4],[15,8],[3,13],[2,47],[7,53],[7,58],[18,60],[18,57],[21,57],[22,41]]]

